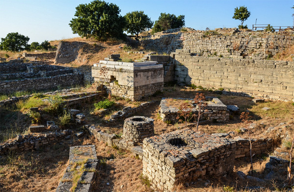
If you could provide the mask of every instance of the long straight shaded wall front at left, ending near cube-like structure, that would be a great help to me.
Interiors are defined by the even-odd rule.
[[[21,90],[45,90],[59,85],[71,86],[82,83],[83,74],[77,70],[73,70],[73,73],[65,75],[0,82],[0,93],[11,93]]]

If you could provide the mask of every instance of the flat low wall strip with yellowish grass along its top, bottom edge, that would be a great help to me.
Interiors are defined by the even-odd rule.
[[[56,192],[91,192],[91,184],[95,179],[97,167],[95,145],[71,147],[69,166]],[[78,181],[74,181],[76,177],[79,177]]]

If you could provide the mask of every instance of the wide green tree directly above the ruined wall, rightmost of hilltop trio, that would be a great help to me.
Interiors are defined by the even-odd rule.
[[[160,16],[152,28],[152,33],[179,28],[185,25],[185,15],[175,16],[174,14],[160,13]]]

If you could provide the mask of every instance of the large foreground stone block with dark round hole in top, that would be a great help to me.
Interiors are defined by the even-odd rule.
[[[272,139],[252,139],[252,153],[273,146]],[[248,139],[227,139],[190,129],[146,138],[143,141],[143,175],[151,185],[172,192],[175,184],[194,182],[203,176],[229,174],[237,158],[250,157]]]

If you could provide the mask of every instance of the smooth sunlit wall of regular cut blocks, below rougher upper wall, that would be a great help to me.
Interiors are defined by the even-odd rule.
[[[273,100],[294,99],[294,62],[192,56],[176,50],[175,79]]]

